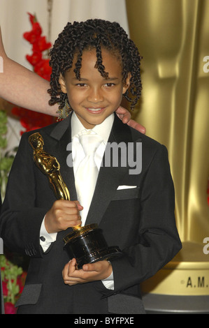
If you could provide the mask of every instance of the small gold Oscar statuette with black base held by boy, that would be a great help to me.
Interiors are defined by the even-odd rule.
[[[57,158],[44,151],[43,137],[40,133],[34,133],[29,137],[29,144],[34,150],[34,163],[48,177],[50,187],[57,200],[70,200],[69,190],[60,174],[60,165]],[[103,237],[102,230],[97,224],[81,227],[72,227],[73,232],[64,237],[64,248],[69,258],[75,258],[78,269],[83,264],[99,260],[108,260],[113,256],[121,255],[117,246],[108,247]]]

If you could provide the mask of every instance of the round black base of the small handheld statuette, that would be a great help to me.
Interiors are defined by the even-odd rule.
[[[74,230],[64,237],[64,242],[64,249],[69,258],[76,259],[78,269],[81,269],[83,264],[109,260],[122,255],[117,246],[108,247],[102,230],[96,224],[85,225]]]

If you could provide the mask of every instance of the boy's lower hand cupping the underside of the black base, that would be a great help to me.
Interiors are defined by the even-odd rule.
[[[76,260],[73,258],[67,263],[62,271],[62,277],[66,285],[77,283],[89,283],[108,278],[112,273],[112,265],[107,260],[84,264],[82,269],[76,269]]]

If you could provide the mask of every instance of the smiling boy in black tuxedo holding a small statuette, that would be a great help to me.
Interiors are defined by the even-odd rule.
[[[88,20],[67,24],[52,49],[51,65],[50,104],[59,103],[64,112],[70,107],[73,114],[39,132],[45,151],[59,161],[71,200],[55,200],[47,177],[33,163],[31,133],[23,135],[0,227],[10,249],[31,257],[18,313],[144,313],[140,282],[170,261],[181,244],[166,148],[114,114],[122,95],[131,107],[140,97],[140,55],[119,24]],[[85,156],[80,139],[89,134],[100,140],[94,154],[99,172],[85,204],[89,190],[80,186],[91,167],[80,179]],[[113,142],[127,149],[133,145],[133,158],[142,143],[141,172],[133,174],[120,157],[118,165],[103,165]],[[66,161],[69,144],[73,165]],[[73,226],[90,223],[99,224],[108,245],[119,246],[122,256],[77,270],[63,250],[63,237]]]

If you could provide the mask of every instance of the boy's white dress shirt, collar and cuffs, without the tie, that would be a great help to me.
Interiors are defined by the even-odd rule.
[[[113,121],[114,121],[114,114],[111,114],[103,121],[103,123],[96,125],[94,126],[94,128],[92,128],[92,131],[100,135],[100,137],[103,139],[103,142],[101,142],[99,147],[96,149],[94,155],[94,161],[96,163],[98,170],[101,166],[101,161],[103,158],[104,151],[106,149],[106,144],[108,142],[108,137],[110,135],[111,128],[113,126]],[[87,129],[85,129],[85,127],[81,124],[80,120],[75,114],[75,112],[73,112],[71,117],[71,140],[72,140],[72,160],[73,160],[74,176],[76,174],[80,161],[82,161],[82,159],[85,156],[84,151],[82,149],[82,145],[78,141],[78,135],[82,133],[82,131],[84,130]],[[57,239],[57,232],[49,234],[45,229],[44,220],[45,218],[43,218],[43,222],[40,230],[40,244],[41,247],[43,248],[43,251],[45,252],[49,248],[50,244]],[[85,222],[82,222],[82,225],[85,225]],[[114,285],[113,273],[102,282],[106,286],[106,288],[113,289],[113,285]]]

